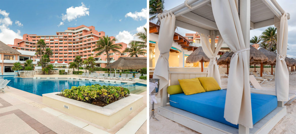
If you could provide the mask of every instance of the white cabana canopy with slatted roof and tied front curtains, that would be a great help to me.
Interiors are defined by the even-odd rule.
[[[276,0],[186,0],[184,4],[159,14],[158,17],[161,19],[158,47],[163,58],[157,61],[153,78],[160,79],[160,89],[166,88],[168,84],[166,57],[171,46],[169,44],[172,44],[173,40],[174,31],[171,29],[180,27],[210,35],[211,41],[219,35],[231,51],[235,52],[231,59],[232,71],[229,72],[224,117],[233,124],[240,124],[240,127],[252,128],[248,76],[250,61],[247,60],[250,57],[250,30],[274,25],[278,33],[276,95],[278,101],[281,101],[279,104],[287,101],[289,75],[284,58],[287,53],[289,13],[286,13]],[[161,32],[162,29],[165,32]],[[205,46],[207,45],[202,45]],[[212,52],[215,52],[215,49]],[[213,70],[208,70],[208,74],[210,71]],[[162,94],[166,93],[163,91]],[[161,106],[165,106],[166,96],[162,96],[161,101]]]

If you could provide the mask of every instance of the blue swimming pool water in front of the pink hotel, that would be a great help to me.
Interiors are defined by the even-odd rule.
[[[7,79],[10,82],[7,84],[13,88],[20,89],[22,91],[26,91],[29,93],[33,93],[39,96],[42,96],[44,93],[53,93],[60,92],[63,89],[69,89],[72,86],[80,86],[80,85],[111,85],[111,86],[120,86],[125,85],[127,83],[104,83],[99,81],[89,81],[89,80],[70,80],[66,78],[59,79],[33,79],[33,78],[15,78],[14,76],[0,76],[0,79]],[[143,90],[147,88],[147,85],[141,83],[135,83],[130,85],[122,86],[124,88],[128,88],[131,93],[137,90]],[[8,89],[9,90],[9,89]]]

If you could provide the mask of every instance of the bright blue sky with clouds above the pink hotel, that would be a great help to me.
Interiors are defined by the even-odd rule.
[[[11,44],[25,33],[54,35],[67,27],[93,25],[128,43],[147,25],[146,8],[146,0],[1,1],[0,40]]]

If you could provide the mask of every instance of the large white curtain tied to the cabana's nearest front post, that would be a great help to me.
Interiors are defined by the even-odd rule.
[[[244,43],[242,28],[234,0],[211,0],[219,32],[234,54],[231,57],[224,118],[232,124],[252,128],[252,107],[249,81],[249,44]]]

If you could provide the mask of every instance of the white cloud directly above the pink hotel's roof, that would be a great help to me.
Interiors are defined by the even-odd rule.
[[[69,7],[66,10],[66,14],[62,14],[62,21],[68,20],[68,22],[75,20],[76,18],[80,18],[82,16],[89,16],[89,8],[87,8],[83,2],[81,2],[81,6],[79,7]],[[61,22],[60,22],[61,24]]]

